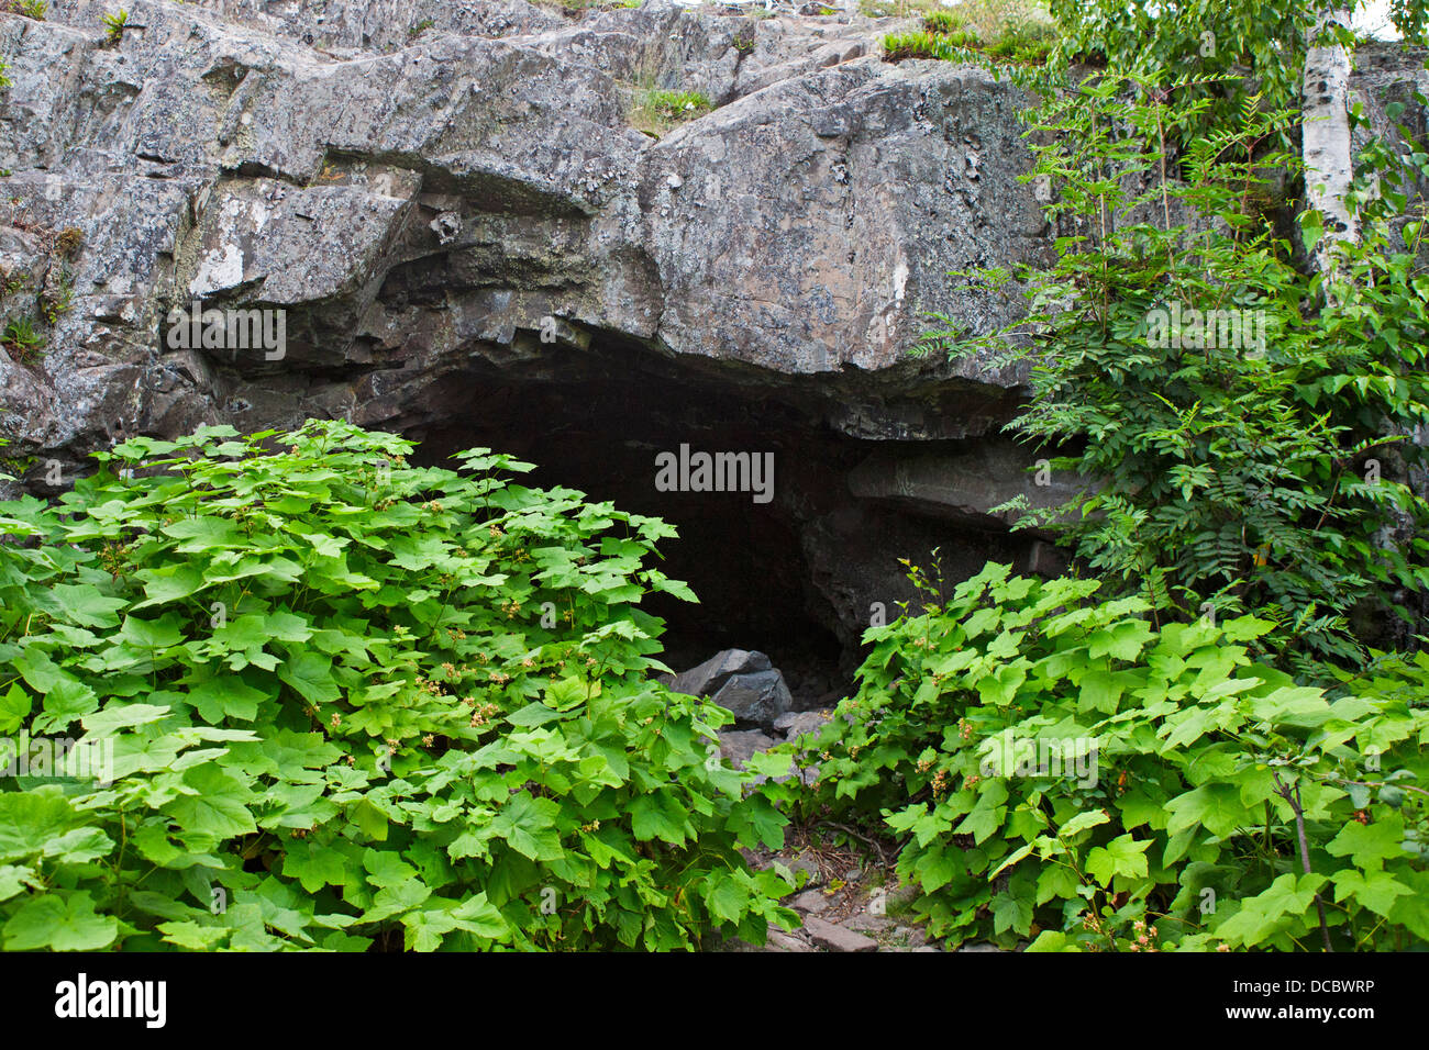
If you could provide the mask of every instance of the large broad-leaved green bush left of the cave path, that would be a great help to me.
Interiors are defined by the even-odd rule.
[[[657,950],[793,921],[739,853],[785,821],[720,764],[729,713],[646,677],[639,600],[692,597],[644,564],[673,530],[410,449],[209,427],[0,504],[0,733],[77,737],[0,779],[6,950]]]

